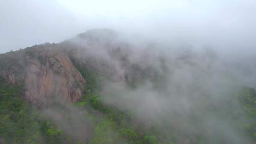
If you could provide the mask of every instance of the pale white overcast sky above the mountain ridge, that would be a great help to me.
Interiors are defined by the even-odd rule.
[[[91,28],[256,52],[256,0],[0,0],[0,53]]]

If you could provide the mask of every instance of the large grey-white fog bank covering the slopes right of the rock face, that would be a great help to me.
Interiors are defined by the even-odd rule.
[[[137,125],[156,127],[165,137],[176,135],[177,144],[196,143],[202,135],[200,142],[207,144],[253,142],[237,129],[244,117],[226,117],[243,111],[235,104],[241,88],[256,87],[252,51],[235,55],[230,49],[229,56],[212,46],[163,44],[108,29],[87,31],[62,45],[69,43],[81,50],[78,59],[94,59],[86,61],[88,68],[107,77],[101,101],[128,110]]]

